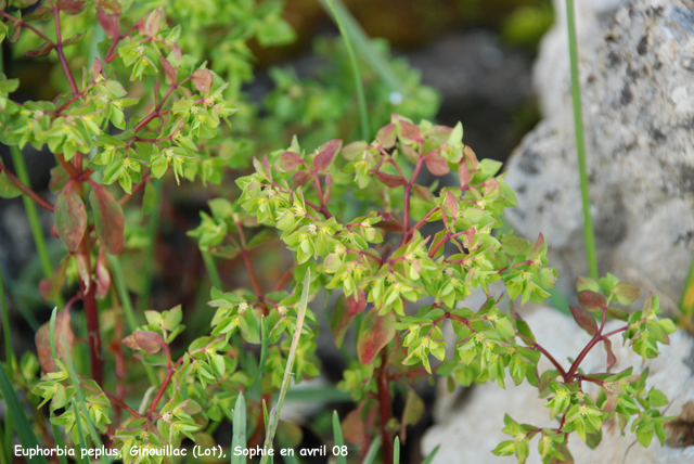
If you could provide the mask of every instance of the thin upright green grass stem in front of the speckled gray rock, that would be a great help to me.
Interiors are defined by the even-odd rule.
[[[568,49],[571,65],[571,98],[574,100],[574,123],[576,126],[576,151],[578,152],[578,173],[580,176],[581,199],[583,202],[586,257],[588,259],[588,272],[590,276],[597,279],[597,253],[595,252],[593,219],[590,214],[588,167],[586,165],[586,138],[583,136],[583,114],[581,109],[581,87],[578,77],[578,46],[576,42],[576,23],[574,20],[574,0],[566,0],[566,17],[568,25]]]

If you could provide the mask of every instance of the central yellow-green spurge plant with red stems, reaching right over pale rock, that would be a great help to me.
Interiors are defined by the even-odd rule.
[[[642,311],[631,314],[615,308],[628,306],[640,295],[631,284],[608,274],[600,282],[578,280],[581,307],[571,307],[578,324],[592,339],[565,366],[540,346],[527,323],[514,310],[502,308],[504,295],[492,296],[489,285],[500,282],[510,300],[542,302],[554,285],[555,271],[547,267],[547,244],[542,235],[529,243],[501,232],[501,215],[515,206],[514,193],[497,175],[501,164],[478,160],[462,143],[462,126],[455,128],[394,115],[371,143],[342,146],[333,140],[313,153],[301,151],[293,141],[286,151],[254,159],[256,172],[236,181],[242,190],[234,203],[210,202],[211,216],[203,214],[202,224],[191,232],[201,247],[227,258],[241,255],[248,267],[254,291],[221,294],[213,291],[210,305],[220,307],[213,335],[236,331],[250,344],[259,343],[261,321],[273,334],[292,326],[296,295],[284,292],[264,294],[249,259],[255,248],[277,233],[294,253],[295,267],[277,286],[280,291],[291,274],[301,279],[310,268],[311,292],[337,291],[330,325],[336,345],[354,321],[358,327],[357,356],[344,374],[340,388],[357,402],[343,425],[361,443],[381,435],[383,462],[393,462],[394,434],[404,439],[406,427],[416,423],[422,401],[414,385],[434,373],[458,383],[497,382],[504,387],[506,375],[518,385],[527,381],[548,401],[554,425],[518,424],[506,416],[504,431],[513,436],[494,453],[515,454],[519,462],[528,456],[528,442],[540,437],[543,462],[568,457],[566,443],[571,433],[590,446],[600,442],[606,418],[618,416],[624,429],[631,423],[639,441],[647,446],[654,433],[660,442],[665,435],[657,408],[667,399],[645,389],[647,370],[611,372],[616,362],[611,337],[621,334],[644,360],[657,356],[657,344],[667,344],[674,331],[668,319],[657,320],[658,298],[650,295]],[[459,184],[437,190],[416,183],[422,168],[434,176],[458,173]],[[350,203],[361,202],[363,214],[347,212]],[[257,222],[264,230],[250,241],[244,224]],[[435,224],[433,234],[421,230]],[[290,274],[291,273],[291,274]],[[465,307],[465,298],[477,288],[487,295],[478,309]],[[432,304],[408,308],[406,301]],[[504,305],[505,306],[505,305]],[[411,309],[411,310],[406,310]],[[361,314],[361,315],[360,315]],[[596,321],[596,319],[600,323]],[[605,331],[608,319],[626,325]],[[316,321],[301,350],[309,365],[316,349]],[[444,325],[451,324],[455,339],[446,339]],[[277,337],[277,335],[273,335]],[[279,387],[283,347],[268,351],[266,371],[272,374],[267,392]],[[606,369],[586,373],[580,366],[586,355],[599,344],[607,352]],[[544,356],[552,370],[538,372]],[[430,360],[436,359],[436,365]],[[311,370],[297,372],[308,377]],[[402,417],[393,417],[394,384],[407,389]],[[584,390],[595,384],[597,396]],[[633,418],[633,421],[631,421]]]

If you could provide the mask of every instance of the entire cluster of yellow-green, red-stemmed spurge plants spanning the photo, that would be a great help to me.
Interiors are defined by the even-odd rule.
[[[14,0],[10,7],[33,3]],[[337,424],[335,440],[342,441],[344,428],[362,459],[369,459],[369,446],[380,437],[383,462],[398,462],[407,426],[423,412],[414,386],[434,374],[447,377],[449,385],[491,381],[502,387],[510,375],[516,385],[528,382],[541,396],[551,395],[548,408],[550,417],[560,421],[557,427],[506,417],[504,431],[513,440],[494,452],[515,454],[519,462],[526,460],[534,437],[540,438],[544,462],[568,457],[566,442],[574,431],[597,444],[603,422],[615,415],[642,444],[654,435],[664,440],[665,417],[657,408],[667,399],[658,390],[646,390],[647,371],[611,372],[615,357],[609,337],[622,334],[644,359],[658,353],[658,344],[668,343],[674,326],[657,319],[657,297],[648,296],[642,311],[629,313],[614,304],[631,305],[638,288],[613,275],[579,279],[581,307],[571,312],[592,338],[565,369],[536,341],[512,302],[518,297],[520,305],[542,302],[549,296],[555,271],[547,266],[548,245],[542,235],[529,243],[504,227],[502,214],[516,205],[515,195],[499,173],[500,163],[480,160],[463,144],[460,124],[414,124],[394,114],[371,141],[343,146],[333,139],[307,151],[295,138],[286,150],[253,157],[252,171],[236,178],[241,193],[210,201],[209,214],[202,212],[201,224],[190,231],[204,254],[240,257],[252,288],[213,287],[211,326],[193,334],[182,350],[177,346],[185,328],[180,306],[133,313],[117,258],[128,247],[130,224],[124,207],[143,190],[141,210],[152,211],[155,182],[169,171],[177,183],[188,179],[206,184],[219,183],[229,167],[243,166],[234,159],[237,145],[224,137],[221,121],[235,112],[240,82],[248,78],[243,72],[250,61],[245,40],[254,34],[268,43],[291,36],[274,4],[242,1],[233,8],[208,2],[216,9],[196,7],[189,14],[180,2],[165,3],[147,10],[127,1],[49,0],[23,16],[21,10],[9,13],[0,0],[0,39],[17,42],[30,33],[21,47],[31,44],[28,56],[55,52],[68,89],[52,102],[16,103],[9,93],[18,81],[0,76],[0,141],[17,149],[47,146],[56,160],[51,172],[54,203],[0,165],[0,194],[24,194],[53,212],[55,235],[67,249],[39,287],[61,311],[37,333],[38,360],[28,355],[17,363],[7,349],[13,388],[34,394],[33,425],[46,443],[61,446],[64,430],[74,447],[106,443],[127,463],[160,463],[163,450],[180,447],[184,439],[214,442],[216,428],[229,421],[234,443],[246,444],[248,423],[250,447],[259,446],[266,433],[265,446],[272,446],[278,426],[285,430],[285,442],[297,444],[291,439],[292,425],[278,425],[277,416],[290,376],[300,382],[320,373],[318,317],[306,305],[321,292],[337,295],[329,317],[336,345],[345,344],[350,326],[357,333],[354,356],[345,344],[349,368],[339,384],[351,394],[356,409],[342,427]],[[243,18],[247,27],[228,31],[221,27],[224,18]],[[89,29],[94,21],[106,40]],[[204,25],[205,35],[196,38],[177,22],[191,29]],[[92,43],[100,43],[101,57],[83,62],[83,50],[72,55],[69,50],[83,48],[87,29]],[[201,47],[200,40],[213,37],[224,40],[219,53],[228,53],[226,59]],[[187,47],[201,55],[213,53],[214,64],[184,53]],[[81,75],[73,72],[79,60]],[[401,73],[407,75],[407,68]],[[303,85],[282,72],[275,72],[275,79],[279,87],[269,104],[279,115],[291,116],[297,99],[306,98],[293,93]],[[416,89],[417,83],[415,75],[408,77],[409,86]],[[377,82],[371,89],[387,94]],[[337,93],[342,96],[335,101],[347,100],[347,91]],[[415,116],[435,106],[426,89],[410,96],[403,107]],[[316,102],[310,92],[307,99],[304,108]],[[376,120],[383,118],[384,106],[372,109]],[[306,113],[307,126],[325,129],[320,111]],[[285,123],[275,121],[282,128]],[[453,172],[454,185],[421,183],[425,170],[440,178]],[[108,186],[115,183],[120,189]],[[292,253],[293,266],[268,293],[254,257],[272,241]],[[79,291],[62,304],[70,275]],[[504,286],[505,308],[503,294],[491,295],[491,284]],[[478,288],[486,302],[465,307]],[[80,357],[70,323],[70,308],[78,302],[86,317],[86,357]],[[140,315],[144,323],[138,322]],[[608,319],[626,325],[605,332]],[[7,318],[3,325],[9,344]],[[447,325],[454,338],[444,336]],[[581,362],[600,343],[607,352],[606,370],[584,373]],[[554,369],[538,372],[542,356]],[[39,366],[43,374],[37,378]],[[131,398],[128,382],[147,383],[146,392]],[[588,384],[597,386],[597,396],[584,389]],[[13,388],[2,382],[0,386],[8,403],[16,399]],[[268,413],[278,392],[280,402]],[[399,392],[406,408],[401,417],[394,417],[393,400]],[[247,417],[244,395],[250,403]],[[41,410],[47,403],[48,423]],[[133,455],[136,449],[152,453]]]

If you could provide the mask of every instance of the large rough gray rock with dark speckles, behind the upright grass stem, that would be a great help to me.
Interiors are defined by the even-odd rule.
[[[674,310],[694,250],[694,2],[578,2],[591,211],[600,269]],[[617,8],[619,3],[624,3]],[[587,271],[563,1],[535,68],[545,119],[509,163],[507,218],[544,233],[560,288]]]

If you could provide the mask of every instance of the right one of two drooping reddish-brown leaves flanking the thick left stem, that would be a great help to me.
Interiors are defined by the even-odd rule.
[[[104,186],[92,184],[89,203],[94,211],[94,225],[101,244],[112,255],[123,252],[123,208]]]

